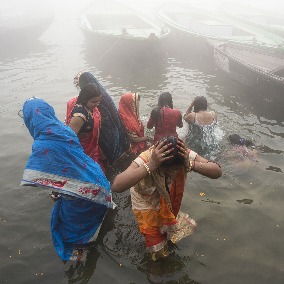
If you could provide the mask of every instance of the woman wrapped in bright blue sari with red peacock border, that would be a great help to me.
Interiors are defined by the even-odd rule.
[[[116,207],[110,183],[49,104],[31,98],[23,114],[34,143],[21,185],[59,193],[51,212],[53,245],[62,260],[81,261],[87,252],[78,245],[95,241],[107,208]]]

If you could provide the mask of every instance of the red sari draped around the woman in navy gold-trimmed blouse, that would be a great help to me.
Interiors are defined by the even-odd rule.
[[[71,112],[76,102],[77,102],[77,97],[67,102],[66,125],[68,126],[72,118]],[[98,147],[98,141],[101,131],[101,114],[97,109],[97,107],[93,108],[93,118],[94,118],[93,131],[88,133],[84,137],[79,137],[79,141],[84,149],[85,154],[91,157],[95,162],[97,162],[101,166],[103,172],[105,173],[103,162],[100,160],[99,147]]]

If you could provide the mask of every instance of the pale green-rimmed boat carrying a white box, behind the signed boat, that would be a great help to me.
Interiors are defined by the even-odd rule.
[[[191,46],[198,49],[205,45],[205,38],[211,38],[284,51],[284,39],[278,36],[187,4],[165,3],[156,9],[156,16],[172,33],[188,36]]]

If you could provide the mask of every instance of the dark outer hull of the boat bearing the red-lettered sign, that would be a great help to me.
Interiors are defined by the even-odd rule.
[[[206,41],[210,56],[217,66],[224,71],[229,78],[241,86],[248,87],[254,93],[263,95],[274,101],[284,102],[284,78],[275,78],[270,74],[251,68],[228,54],[216,49]]]

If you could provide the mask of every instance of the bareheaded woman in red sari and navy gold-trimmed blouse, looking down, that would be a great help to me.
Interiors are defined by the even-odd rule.
[[[88,83],[80,90],[77,98],[67,102],[66,125],[70,126],[79,138],[85,154],[97,162],[103,172],[98,141],[101,131],[101,114],[97,109],[102,98],[100,88]]]

